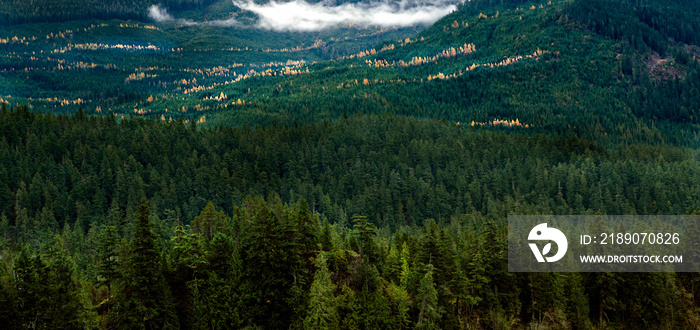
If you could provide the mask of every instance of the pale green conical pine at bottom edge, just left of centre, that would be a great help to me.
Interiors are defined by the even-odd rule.
[[[306,329],[337,329],[338,315],[336,298],[333,294],[335,285],[331,282],[326,258],[319,253],[316,259],[316,274],[311,284],[308,315],[304,319]]]

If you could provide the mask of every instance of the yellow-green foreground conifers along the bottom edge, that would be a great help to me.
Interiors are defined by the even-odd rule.
[[[700,211],[696,211],[700,212]],[[304,199],[248,198],[231,216],[209,203],[199,228],[170,240],[143,199],[120,244],[116,276],[75,272],[70,234],[5,248],[4,329],[456,329],[694,327],[697,274],[508,273],[503,228],[480,216],[378,231],[319,221]],[[204,227],[205,232],[201,231]],[[207,232],[213,237],[207,237]],[[128,241],[127,241],[128,239]],[[41,279],[41,280],[40,280]]]

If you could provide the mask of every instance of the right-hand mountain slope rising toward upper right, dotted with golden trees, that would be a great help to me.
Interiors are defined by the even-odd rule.
[[[670,39],[677,33],[692,41],[695,34],[669,32],[675,20],[654,19],[649,26],[624,10],[599,17],[594,4],[583,1],[490,8],[474,15],[464,6],[409,42],[319,63],[310,74],[214,89],[209,94],[224,92],[248,103],[223,106],[230,111],[216,110],[207,122],[391,112],[475,125],[517,119],[538,132],[615,143],[698,145],[697,48]],[[680,17],[689,19],[683,26],[696,24]],[[460,51],[469,45],[473,51]]]

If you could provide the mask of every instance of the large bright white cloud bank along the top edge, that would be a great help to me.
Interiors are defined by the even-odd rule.
[[[328,3],[310,4],[303,0],[256,4],[232,0],[234,5],[259,17],[258,26],[278,31],[316,31],[341,24],[409,26],[429,25],[456,9],[456,0],[415,1],[396,3]]]

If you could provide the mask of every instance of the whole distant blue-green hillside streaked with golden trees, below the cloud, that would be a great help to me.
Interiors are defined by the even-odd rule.
[[[220,10],[238,10],[228,6]],[[605,147],[695,147],[697,10],[697,1],[470,1],[415,31],[22,25],[0,29],[0,99],[200,125],[392,113],[516,123],[505,126]]]

